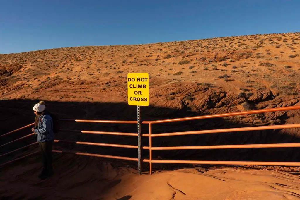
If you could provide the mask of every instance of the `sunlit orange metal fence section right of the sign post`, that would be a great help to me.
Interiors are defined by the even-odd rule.
[[[270,130],[270,129],[283,129],[283,128],[299,128],[300,124],[285,124],[275,126],[260,126],[260,127],[245,127],[245,128],[228,128],[228,129],[216,129],[216,130],[200,130],[200,131],[185,131],[177,133],[156,133],[152,134],[152,124],[187,121],[196,119],[208,119],[208,118],[220,118],[237,115],[249,115],[265,112],[285,111],[300,109],[300,106],[289,106],[272,109],[252,110],[245,112],[233,112],[216,115],[205,115],[197,117],[176,118],[157,121],[143,121],[143,124],[149,124],[149,133],[143,134],[143,136],[149,137],[149,147],[143,147],[143,149],[149,150],[149,159],[144,159],[144,162],[149,163],[149,173],[152,174],[152,163],[178,163],[178,164],[222,164],[222,165],[283,165],[283,166],[300,166],[300,162],[253,162],[253,161],[198,161],[198,160],[153,160],[153,150],[176,150],[176,149],[226,149],[226,148],[278,148],[278,147],[300,147],[300,143],[293,144],[258,144],[258,145],[215,145],[215,146],[185,146],[185,147],[152,147],[152,137],[161,136],[178,136],[178,135],[191,135],[191,134],[204,134],[204,133],[226,133],[226,132],[238,132],[238,131],[250,131],[250,130]]]

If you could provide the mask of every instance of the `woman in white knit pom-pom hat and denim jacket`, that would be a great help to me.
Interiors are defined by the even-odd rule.
[[[32,132],[36,133],[36,139],[40,145],[42,157],[43,157],[43,170],[38,176],[41,179],[45,179],[53,174],[52,171],[52,144],[54,140],[53,132],[53,120],[49,113],[46,111],[44,101],[33,106],[35,112],[35,127],[32,128]]]

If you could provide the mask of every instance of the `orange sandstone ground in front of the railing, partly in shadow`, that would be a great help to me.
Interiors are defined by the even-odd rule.
[[[1,169],[1,199],[300,199],[298,172],[195,167],[138,175],[98,158],[55,155],[55,174],[40,181],[39,159]]]

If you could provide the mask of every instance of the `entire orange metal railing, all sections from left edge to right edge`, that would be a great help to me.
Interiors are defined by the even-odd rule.
[[[253,111],[245,111],[245,112],[234,112],[234,113],[224,113],[224,114],[216,114],[216,115],[205,115],[205,116],[197,116],[197,117],[187,117],[187,118],[176,118],[176,119],[167,119],[167,120],[158,120],[158,121],[143,121],[143,124],[149,124],[149,133],[142,134],[142,136],[149,137],[149,147],[142,147],[143,149],[149,150],[149,159],[144,159],[143,162],[149,163],[149,173],[152,174],[152,163],[184,163],[184,164],[223,164],[223,165],[281,165],[281,166],[300,166],[300,162],[255,162],[255,161],[198,161],[198,160],[153,160],[152,159],[152,151],[154,150],[178,150],[178,149],[232,149],[232,148],[283,148],[283,147],[300,147],[300,143],[284,143],[284,144],[251,144],[251,145],[210,145],[210,146],[176,146],[176,147],[152,147],[152,137],[161,137],[161,136],[176,136],[176,135],[190,135],[190,134],[206,134],[206,133],[226,133],[226,132],[241,132],[241,131],[252,131],[252,130],[270,130],[270,129],[284,129],[284,128],[299,128],[300,124],[284,124],[284,125],[275,125],[275,126],[260,126],[260,127],[244,127],[244,128],[227,128],[227,129],[216,129],[216,130],[200,130],[200,131],[185,131],[185,132],[176,132],[176,133],[156,133],[152,134],[152,124],[166,123],[166,122],[176,122],[176,121],[187,121],[187,120],[196,120],[196,119],[208,119],[208,118],[220,118],[220,117],[229,117],[236,115],[249,115],[249,114],[257,114],[257,113],[265,113],[265,112],[276,112],[276,111],[287,111],[287,110],[295,110],[300,109],[300,106],[289,106],[289,107],[280,107],[280,108],[272,108],[272,109],[261,109],[261,110],[253,110]],[[62,121],[75,121],[75,122],[91,122],[91,123],[121,123],[121,124],[137,124],[137,121],[108,121],[108,120],[70,120],[63,119]],[[9,133],[5,133],[1,136],[8,135],[10,133],[14,133],[18,130],[22,130],[26,127],[30,127],[33,124],[29,124],[17,130],[11,131]],[[137,133],[119,133],[119,132],[104,132],[104,131],[87,131],[87,130],[61,130],[61,131],[71,131],[71,132],[80,132],[80,133],[90,133],[90,134],[104,134],[104,135],[123,135],[123,136],[138,136]],[[8,142],[4,145],[11,144],[12,142],[18,141],[20,139],[24,139],[29,137],[35,133],[31,133],[29,135],[23,136],[19,139]],[[118,147],[118,148],[134,148],[138,149],[138,146],[134,145],[120,145],[120,144],[107,144],[107,143],[95,143],[95,142],[80,142],[80,141],[65,141],[65,140],[54,140],[54,142],[67,142],[74,143],[79,145],[96,145],[96,146],[105,146],[105,147]],[[37,142],[32,143],[30,145],[18,148],[11,152],[0,155],[5,156],[12,152],[18,151],[20,149],[35,145]],[[1,145],[0,147],[4,146]],[[93,156],[93,157],[103,157],[103,158],[113,158],[113,159],[121,159],[121,160],[132,160],[139,161],[138,158],[131,157],[120,157],[120,156],[111,156],[111,155],[101,155],[101,154],[89,154],[83,152],[69,152],[69,151],[58,151],[52,150],[56,153],[66,153],[66,154],[75,154],[75,155],[84,155],[84,156]],[[31,156],[36,154],[37,152],[28,154],[23,157],[19,157],[15,160],[20,160],[24,157]],[[11,160],[7,163],[11,163],[15,160]],[[4,163],[6,164],[6,163]],[[4,165],[1,164],[0,166]]]

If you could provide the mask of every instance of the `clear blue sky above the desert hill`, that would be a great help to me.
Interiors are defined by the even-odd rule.
[[[0,53],[300,31],[299,0],[0,0]]]

